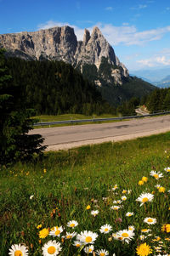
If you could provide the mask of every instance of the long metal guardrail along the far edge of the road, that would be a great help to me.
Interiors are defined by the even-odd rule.
[[[54,124],[62,124],[62,123],[77,123],[77,122],[104,122],[104,121],[122,121],[123,119],[132,119],[132,118],[142,118],[142,117],[154,117],[154,116],[160,116],[160,115],[167,115],[170,114],[170,111],[164,111],[164,112],[158,112],[158,113],[152,113],[149,115],[143,115],[143,116],[130,116],[130,117],[111,117],[111,118],[92,118],[92,119],[78,119],[78,120],[64,120],[64,121],[54,121],[54,122],[37,122],[34,123],[33,126],[50,126]]]

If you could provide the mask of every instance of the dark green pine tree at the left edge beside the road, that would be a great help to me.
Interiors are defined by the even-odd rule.
[[[26,109],[21,85],[8,75],[4,52],[0,49],[0,164],[30,159],[45,149],[41,135],[28,134],[34,112]]]

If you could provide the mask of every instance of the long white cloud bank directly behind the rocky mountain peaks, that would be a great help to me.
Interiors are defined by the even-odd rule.
[[[84,29],[71,25],[69,23],[62,23],[53,20],[48,20],[44,24],[40,24],[38,29],[48,29],[54,26],[71,26],[74,28],[78,40],[82,40]],[[111,24],[102,24],[98,23],[95,26],[98,26],[100,31],[103,33],[107,41],[111,45],[139,45],[144,46],[147,43],[152,41],[160,40],[165,34],[170,32],[170,26],[165,26],[161,28],[156,28],[148,31],[138,31],[136,26],[113,26]],[[94,26],[88,27],[88,30],[91,32]]]

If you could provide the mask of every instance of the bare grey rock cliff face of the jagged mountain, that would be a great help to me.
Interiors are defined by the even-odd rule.
[[[85,29],[83,41],[77,41],[73,28],[70,26],[54,27],[35,32],[20,32],[0,35],[0,48],[6,48],[8,56],[20,57],[25,60],[63,60],[79,68],[90,68],[95,65],[94,82],[102,86],[122,84],[128,77],[127,68],[118,60],[114,49],[105,37],[94,27],[92,34]],[[105,73],[106,65],[109,74]],[[102,67],[102,68],[101,68]]]

